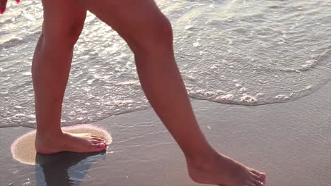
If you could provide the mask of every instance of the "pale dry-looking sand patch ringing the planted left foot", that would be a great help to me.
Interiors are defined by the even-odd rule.
[[[112,142],[112,137],[107,130],[94,125],[74,125],[63,127],[62,130],[71,133],[91,133],[92,135],[103,137],[108,145]],[[37,158],[37,152],[35,151],[35,130],[18,137],[11,145],[11,154],[13,155],[13,159],[21,163],[35,165]]]

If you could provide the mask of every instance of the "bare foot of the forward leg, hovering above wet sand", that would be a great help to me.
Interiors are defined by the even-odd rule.
[[[190,177],[195,182],[226,186],[262,186],[266,175],[222,154],[209,159],[187,159]]]

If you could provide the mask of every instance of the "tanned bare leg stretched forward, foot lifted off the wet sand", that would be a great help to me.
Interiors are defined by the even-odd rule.
[[[219,154],[204,138],[175,63],[170,23],[154,1],[80,2],[129,44],[146,97],[185,154],[192,180],[227,186],[263,185],[263,173]]]

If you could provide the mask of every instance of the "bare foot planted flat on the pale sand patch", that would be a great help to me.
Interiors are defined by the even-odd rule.
[[[36,135],[35,137],[35,149],[40,154],[55,154],[61,151],[102,151],[106,146],[103,138],[88,133],[63,132],[60,135]]]

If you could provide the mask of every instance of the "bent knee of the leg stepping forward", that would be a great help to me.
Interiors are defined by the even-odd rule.
[[[170,21],[165,16],[154,19],[129,45],[134,54],[173,51],[173,30]]]

